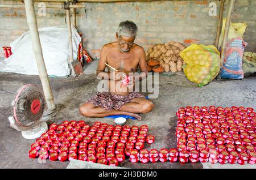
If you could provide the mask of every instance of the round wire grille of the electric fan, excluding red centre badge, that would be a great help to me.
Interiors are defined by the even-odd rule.
[[[34,100],[39,100],[41,104],[40,110],[36,114],[31,111],[31,104]],[[12,105],[16,122],[20,126],[29,127],[42,117],[46,103],[40,89],[34,84],[28,84],[19,88]]]

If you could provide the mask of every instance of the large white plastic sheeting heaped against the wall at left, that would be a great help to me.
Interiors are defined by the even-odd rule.
[[[68,29],[58,27],[39,28],[44,63],[48,75],[67,76],[71,73],[69,63]],[[81,37],[72,27],[73,58],[77,59],[77,50]],[[0,71],[27,75],[39,75],[36,59],[32,50],[30,33],[25,32],[10,44],[13,54],[0,62]]]

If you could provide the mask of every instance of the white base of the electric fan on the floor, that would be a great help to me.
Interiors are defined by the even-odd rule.
[[[25,139],[36,139],[39,138],[44,132],[48,130],[48,125],[46,122],[40,122],[39,126],[32,130],[22,131],[22,136]]]

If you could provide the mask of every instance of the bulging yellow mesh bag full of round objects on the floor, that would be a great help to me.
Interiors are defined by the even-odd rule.
[[[215,46],[192,44],[180,52],[186,65],[183,65],[185,76],[200,87],[211,82],[220,71],[220,52]]]

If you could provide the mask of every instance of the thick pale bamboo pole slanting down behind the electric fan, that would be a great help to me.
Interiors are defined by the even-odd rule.
[[[38,25],[36,22],[36,15],[34,10],[34,4],[32,0],[25,0],[27,24],[30,29],[30,36],[33,46],[33,52],[35,54],[36,64],[38,66],[39,78],[42,82],[44,96],[46,97],[47,107],[50,110],[56,109],[51,85],[49,84],[49,78],[44,64],[44,57],[42,53],[42,46],[38,33]]]

